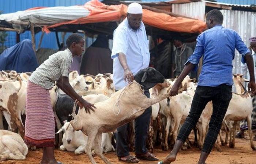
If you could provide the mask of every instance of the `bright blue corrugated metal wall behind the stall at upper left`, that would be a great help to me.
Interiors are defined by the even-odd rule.
[[[33,7],[53,7],[53,6],[71,6],[71,5],[83,5],[89,0],[1,0],[0,11],[3,13],[11,13],[20,10],[26,10]],[[41,32],[35,35],[36,45],[38,45]],[[67,36],[70,35],[68,33]],[[61,36],[59,34],[60,42]],[[20,34],[20,40],[31,39],[30,31],[26,31]],[[92,43],[91,39],[87,40],[89,45]],[[4,46],[11,47],[16,44],[16,32],[8,32],[7,41]],[[88,45],[88,44],[87,44]],[[57,49],[57,41],[54,32],[44,35],[41,47]]]

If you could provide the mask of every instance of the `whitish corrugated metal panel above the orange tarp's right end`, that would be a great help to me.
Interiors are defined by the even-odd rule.
[[[173,4],[172,11],[176,14],[193,17],[204,21],[205,2]]]

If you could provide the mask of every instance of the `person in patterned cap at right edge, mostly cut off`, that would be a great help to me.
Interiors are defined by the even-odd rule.
[[[249,49],[251,50],[252,53],[252,58],[253,58],[253,63],[254,63],[254,77],[256,78],[256,37],[250,38],[250,47]],[[244,64],[242,66],[242,70],[243,72],[246,72],[246,74],[249,75],[248,73],[248,67],[246,64]],[[256,129],[256,101],[255,101],[256,97],[253,96],[252,97],[252,106],[253,106],[253,110],[252,110],[252,130]],[[240,132],[237,133],[236,138],[244,138],[244,131],[248,130],[248,125],[247,125],[247,121],[243,120],[240,122]],[[253,137],[253,140],[256,140],[256,136]]]

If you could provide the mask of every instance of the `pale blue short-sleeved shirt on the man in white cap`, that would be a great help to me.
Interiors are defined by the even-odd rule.
[[[114,59],[113,83],[116,90],[120,90],[128,84],[128,82],[124,82],[124,69],[117,57],[120,52],[125,54],[127,65],[133,75],[148,67],[150,53],[143,22],[140,28],[135,31],[129,26],[126,18],[114,31],[111,58]]]

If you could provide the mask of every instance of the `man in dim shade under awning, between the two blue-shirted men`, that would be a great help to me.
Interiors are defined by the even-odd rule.
[[[176,47],[172,55],[172,76],[176,77],[181,74],[181,71],[184,69],[184,64],[187,62],[189,56],[193,54],[192,48],[188,47],[183,43],[183,39],[174,39],[173,44]]]

